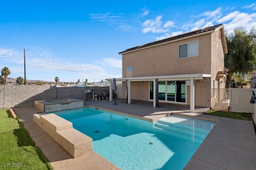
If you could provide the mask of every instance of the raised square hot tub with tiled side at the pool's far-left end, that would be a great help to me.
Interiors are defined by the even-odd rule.
[[[77,109],[84,107],[84,100],[78,99],[54,99],[54,100],[38,100],[35,101],[35,107],[44,111],[44,112],[52,112],[52,111],[62,111],[69,109]]]

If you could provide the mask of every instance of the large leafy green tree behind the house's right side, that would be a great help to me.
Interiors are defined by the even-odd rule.
[[[256,69],[256,31],[247,33],[243,27],[226,35],[228,54],[224,56],[225,67],[229,69],[226,88],[230,88],[231,77],[245,76]]]

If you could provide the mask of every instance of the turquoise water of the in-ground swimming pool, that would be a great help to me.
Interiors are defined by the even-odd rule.
[[[90,107],[54,112],[123,170],[182,170],[215,122],[171,115],[154,123]]]

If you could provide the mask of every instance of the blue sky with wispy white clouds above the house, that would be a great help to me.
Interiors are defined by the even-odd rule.
[[[125,49],[207,26],[256,26],[252,0],[5,0],[0,5],[0,69],[8,77],[98,82],[122,77]]]

